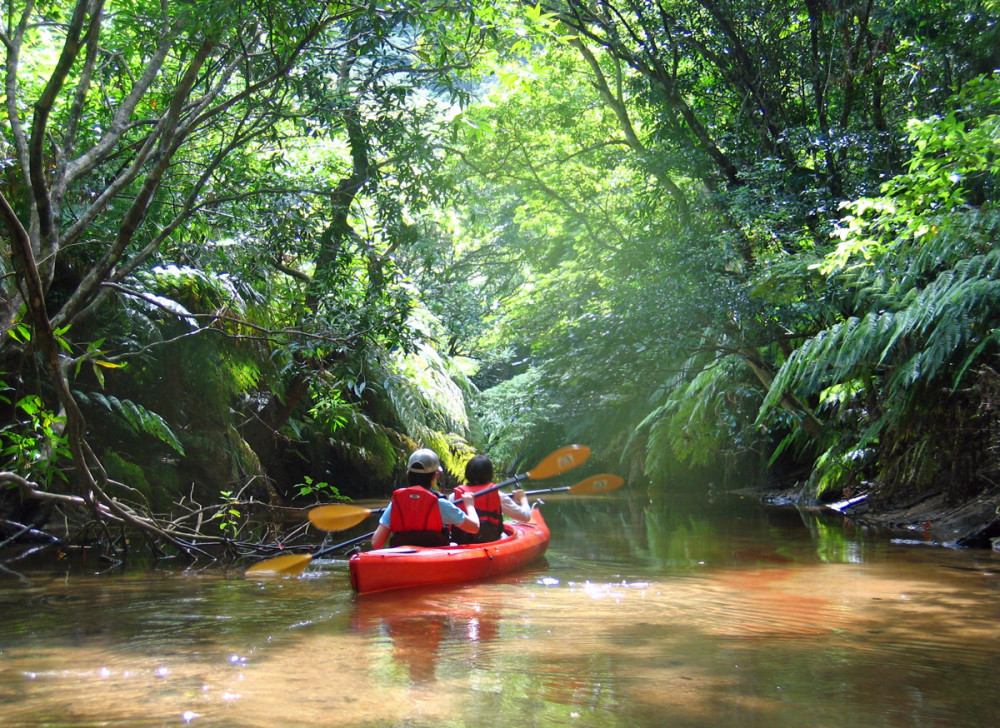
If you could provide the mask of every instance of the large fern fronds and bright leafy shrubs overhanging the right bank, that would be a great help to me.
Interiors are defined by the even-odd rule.
[[[956,111],[912,121],[907,171],[844,206],[819,265],[844,315],[792,352],[761,409],[793,391],[838,423],[814,475],[821,492],[867,478],[884,492],[947,482],[958,497],[992,483],[998,90],[976,79]]]

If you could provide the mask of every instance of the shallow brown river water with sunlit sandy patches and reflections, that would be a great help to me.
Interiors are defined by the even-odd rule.
[[[544,560],[428,591],[8,563],[0,726],[1000,723],[1000,554],[735,496],[543,507]]]

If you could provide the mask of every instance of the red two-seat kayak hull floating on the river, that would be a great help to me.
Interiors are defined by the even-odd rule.
[[[504,523],[499,541],[466,546],[398,546],[354,554],[351,586],[367,594],[428,584],[472,581],[506,574],[537,559],[549,545],[549,527],[538,509],[527,523]]]

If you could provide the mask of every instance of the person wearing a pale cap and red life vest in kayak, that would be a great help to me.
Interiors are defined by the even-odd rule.
[[[410,455],[406,463],[408,486],[393,491],[372,534],[372,548],[382,548],[390,536],[392,546],[447,546],[449,527],[454,532],[479,531],[471,493],[462,497],[459,508],[434,490],[434,482],[442,472],[441,461],[433,450],[420,448]]]

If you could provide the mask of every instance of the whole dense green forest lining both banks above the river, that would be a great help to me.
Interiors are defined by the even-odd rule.
[[[1000,497],[996,0],[0,7],[0,541],[424,446]]]

